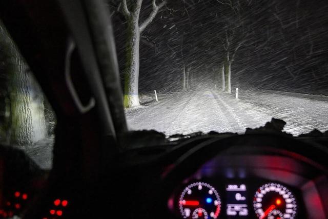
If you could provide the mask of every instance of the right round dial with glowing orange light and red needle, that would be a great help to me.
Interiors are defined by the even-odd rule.
[[[254,196],[254,210],[260,219],[295,218],[297,204],[292,192],[283,185],[268,183]]]

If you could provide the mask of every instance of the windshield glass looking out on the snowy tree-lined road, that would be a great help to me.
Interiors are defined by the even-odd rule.
[[[110,1],[131,130],[328,129],[328,3]]]

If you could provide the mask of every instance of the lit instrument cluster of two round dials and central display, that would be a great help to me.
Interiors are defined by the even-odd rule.
[[[180,218],[295,219],[306,217],[300,192],[278,182],[190,182],[176,190],[170,209]]]

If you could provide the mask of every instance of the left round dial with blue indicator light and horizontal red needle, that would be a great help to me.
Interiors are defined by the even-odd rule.
[[[179,198],[179,209],[183,218],[218,218],[221,200],[215,188],[197,182],[187,186]]]

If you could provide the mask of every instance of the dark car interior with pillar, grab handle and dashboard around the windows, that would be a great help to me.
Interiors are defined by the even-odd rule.
[[[274,118],[245,134],[128,131],[107,10],[0,2],[57,117],[50,171],[0,147],[0,218],[328,218],[327,132]]]

